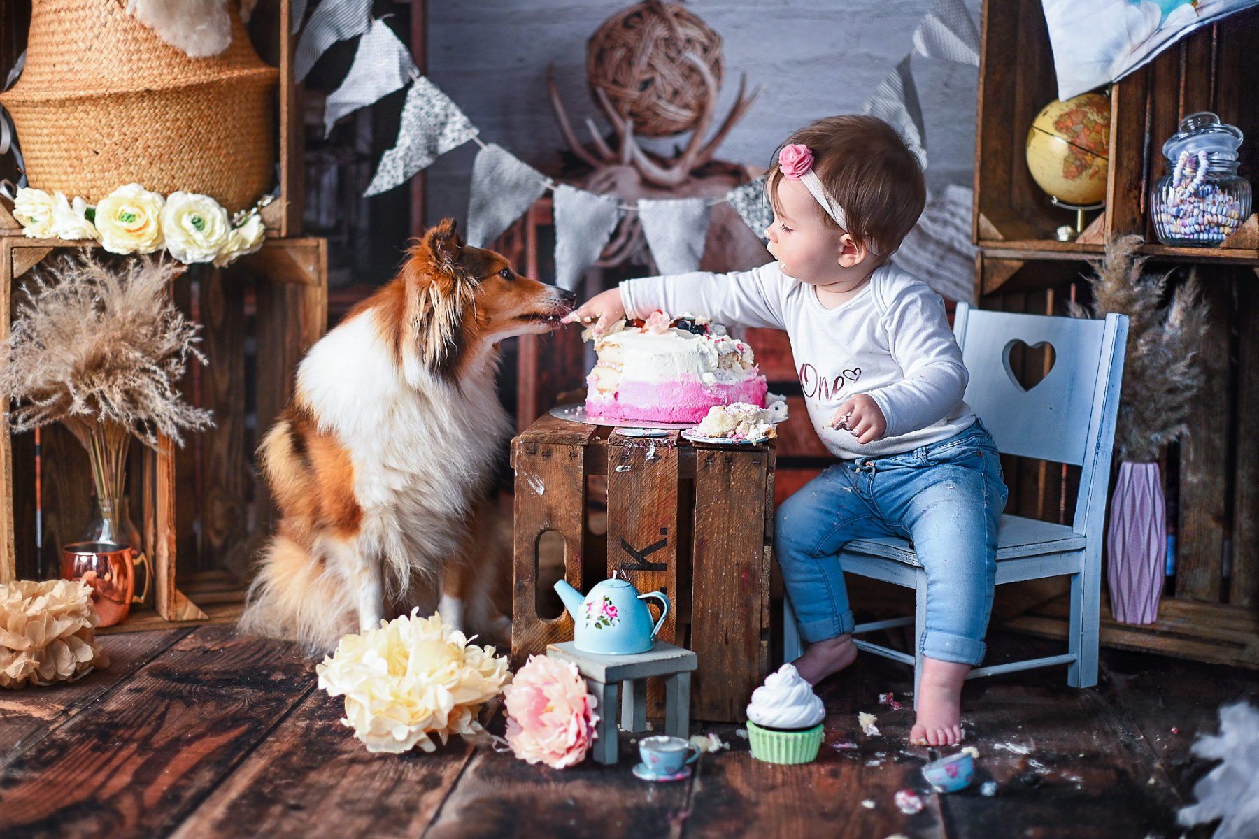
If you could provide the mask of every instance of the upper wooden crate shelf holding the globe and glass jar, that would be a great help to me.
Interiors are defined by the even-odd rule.
[[[1230,15],[1168,48],[1146,67],[1109,88],[1110,161],[1104,213],[1094,216],[1080,247],[1058,242],[1055,230],[1074,213],[1055,208],[1027,170],[1025,140],[1036,113],[1058,97],[1054,59],[1040,0],[983,4],[980,99],[976,118],[974,218],[972,239],[981,247],[1045,254],[1100,253],[1109,235],[1137,233],[1152,243],[1146,253],[1170,259],[1259,264],[1254,244],[1240,248],[1170,248],[1157,244],[1147,196],[1162,177],[1162,143],[1180,119],[1214,111],[1248,138],[1241,169],[1259,171],[1259,9]],[[1019,258],[1019,257],[1013,257]]]

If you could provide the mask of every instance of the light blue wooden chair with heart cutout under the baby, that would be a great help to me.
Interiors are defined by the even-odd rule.
[[[1035,667],[1068,664],[1066,683],[1087,688],[1098,681],[1098,621],[1102,585],[1102,538],[1110,448],[1114,442],[1128,318],[1104,321],[972,309],[961,303],[953,332],[971,372],[966,401],[983,419],[1005,454],[1081,467],[1071,525],[1002,516],[997,533],[997,585],[1059,575],[1071,577],[1068,652],[1008,664],[978,667],[968,678]],[[1031,390],[1024,390],[1010,367],[1010,351],[1024,342],[1049,343],[1054,366]],[[914,665],[914,687],[923,672],[922,638],[927,615],[927,574],[903,538],[849,542],[838,556],[847,574],[894,582],[915,592],[913,618],[857,624],[854,634],[914,625],[914,655],[856,639],[875,655]],[[784,599],[783,655],[799,655],[796,614]]]

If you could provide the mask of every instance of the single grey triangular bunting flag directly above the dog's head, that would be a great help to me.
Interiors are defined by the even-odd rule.
[[[490,143],[472,164],[467,242],[483,248],[546,191],[546,177],[502,146]]]

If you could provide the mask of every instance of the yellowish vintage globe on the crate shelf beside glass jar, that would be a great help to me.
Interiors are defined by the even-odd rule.
[[[1064,204],[1104,200],[1109,158],[1110,99],[1102,93],[1054,99],[1027,130],[1032,180]]]

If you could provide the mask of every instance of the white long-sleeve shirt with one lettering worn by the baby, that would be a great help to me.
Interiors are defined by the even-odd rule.
[[[777,262],[730,274],[628,279],[621,283],[621,301],[630,317],[660,308],[786,330],[810,419],[838,458],[912,452],[974,423],[962,400],[968,376],[944,301],[895,265],[876,268],[855,297],[830,309],[812,286],[783,274]],[[854,394],[879,405],[888,420],[883,439],[862,445],[830,426]]]

